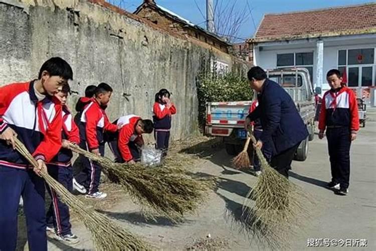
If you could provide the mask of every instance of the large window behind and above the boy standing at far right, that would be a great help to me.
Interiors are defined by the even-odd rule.
[[[338,51],[338,70],[347,73],[349,87],[372,86],[375,83],[376,67],[374,48]]]

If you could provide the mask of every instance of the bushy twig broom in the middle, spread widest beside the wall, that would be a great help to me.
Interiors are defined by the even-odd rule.
[[[183,168],[181,160],[158,167],[141,164],[119,164],[71,144],[72,151],[101,165],[108,178],[120,184],[133,201],[142,206],[146,217],[163,216],[172,222],[183,220],[184,214],[194,212],[204,201],[214,182],[195,179]],[[169,159],[171,160],[171,159]]]

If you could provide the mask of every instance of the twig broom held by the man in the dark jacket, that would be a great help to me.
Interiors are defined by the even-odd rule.
[[[256,139],[251,134],[252,141]],[[288,248],[289,241],[310,217],[311,197],[274,170],[260,149],[256,154],[262,174],[243,204],[242,223],[261,244],[272,249]]]

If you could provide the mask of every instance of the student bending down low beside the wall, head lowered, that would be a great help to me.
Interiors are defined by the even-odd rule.
[[[144,145],[142,134],[153,132],[153,122],[133,114],[119,117],[115,122],[120,128],[119,134],[109,144],[115,162],[134,164],[140,161],[140,149]]]

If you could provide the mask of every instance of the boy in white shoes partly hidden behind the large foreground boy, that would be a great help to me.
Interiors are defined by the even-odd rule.
[[[62,133],[62,148],[58,155],[47,164],[48,173],[62,184],[68,191],[72,192],[73,184],[73,170],[71,159],[73,157],[72,151],[69,149],[68,143],[79,144],[80,135],[78,128],[73,121],[72,113],[66,106],[67,97],[70,93],[69,85],[63,86],[62,90],[56,94],[56,97],[62,104],[63,127]],[[69,207],[62,202],[56,194],[56,191],[47,186],[47,190],[51,196],[50,208],[47,211],[47,231],[51,232],[52,237],[56,240],[77,243],[78,237],[72,234],[71,223],[69,221]]]

